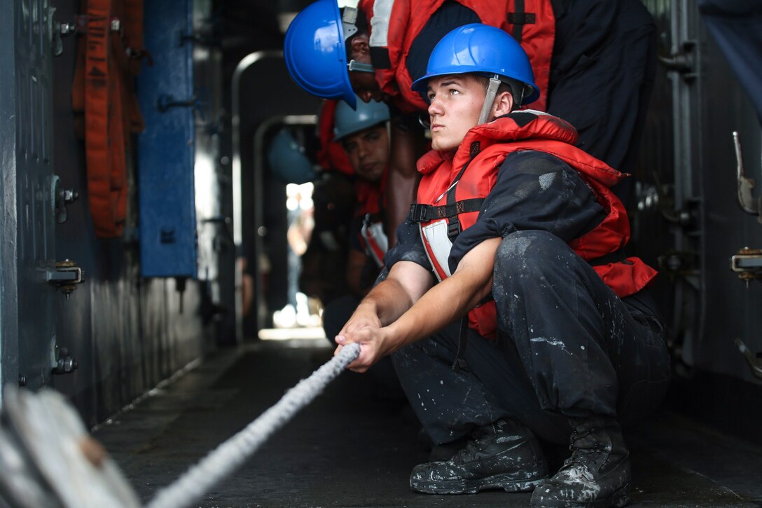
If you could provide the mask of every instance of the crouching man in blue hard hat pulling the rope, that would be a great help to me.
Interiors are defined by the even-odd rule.
[[[388,275],[336,337],[349,365],[392,355],[424,429],[451,456],[414,468],[431,494],[533,490],[535,506],[624,506],[620,425],[661,401],[668,352],[626,257],[623,178],[575,148],[577,133],[517,108],[537,98],[526,53],[484,24],[450,32],[413,83],[433,150],[418,200],[386,255]],[[553,474],[542,441],[569,444]]]

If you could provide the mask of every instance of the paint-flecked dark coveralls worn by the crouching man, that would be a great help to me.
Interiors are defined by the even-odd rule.
[[[473,246],[502,237],[492,285],[497,339],[469,330],[459,371],[451,368],[459,323],[392,354],[434,442],[507,418],[564,443],[568,416],[627,423],[659,404],[670,368],[652,300],[643,291],[620,299],[566,243],[603,217],[588,185],[564,162],[530,151],[507,156],[478,220],[450,252],[454,271]],[[387,267],[410,261],[431,270],[418,225],[403,223],[397,236]]]

